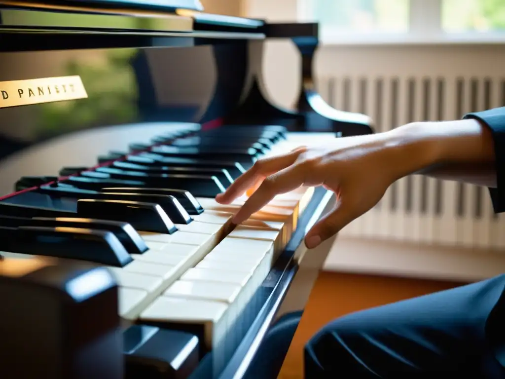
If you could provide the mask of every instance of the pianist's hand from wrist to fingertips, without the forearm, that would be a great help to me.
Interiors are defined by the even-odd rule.
[[[392,182],[419,165],[415,158],[406,159],[410,153],[415,154],[415,148],[402,140],[401,133],[395,130],[335,138],[325,146],[302,147],[259,160],[225,193],[218,195],[216,201],[231,203],[248,188],[259,185],[234,216],[233,222],[238,224],[277,194],[299,186],[323,185],[336,193],[337,202],[333,211],[307,234],[306,245],[314,248],[371,209]]]

